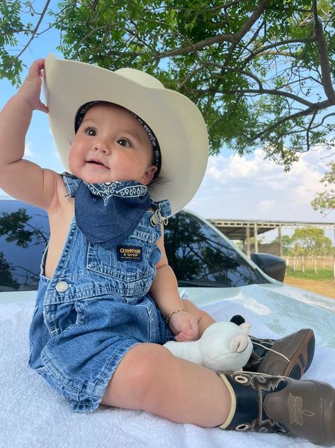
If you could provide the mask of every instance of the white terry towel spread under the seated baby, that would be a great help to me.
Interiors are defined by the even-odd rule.
[[[1,448],[307,448],[314,445],[283,435],[264,435],[180,425],[154,415],[99,408],[72,413],[67,401],[27,366],[28,327],[33,303],[0,305],[0,447]],[[244,315],[256,336],[276,336],[239,305],[223,302],[205,308],[217,320]],[[317,349],[305,378],[335,386],[335,356]]]

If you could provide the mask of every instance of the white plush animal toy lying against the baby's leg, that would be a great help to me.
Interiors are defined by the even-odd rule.
[[[213,371],[238,371],[249,361],[252,342],[250,325],[244,322],[215,322],[198,341],[166,342],[164,346],[174,356],[187,359]]]

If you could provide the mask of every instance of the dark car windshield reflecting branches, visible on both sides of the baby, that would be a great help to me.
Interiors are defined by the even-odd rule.
[[[47,215],[15,200],[0,200],[0,205],[0,291],[35,290],[50,236]],[[268,283],[232,244],[188,212],[169,219],[164,244],[179,286],[227,288]]]

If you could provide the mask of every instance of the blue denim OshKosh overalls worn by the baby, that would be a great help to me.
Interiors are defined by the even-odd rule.
[[[80,180],[64,175],[70,197]],[[169,201],[160,206],[170,214]],[[89,211],[88,211],[89,212]],[[161,253],[161,226],[147,210],[118,248],[89,243],[76,225],[69,228],[52,278],[44,275],[46,252],[30,326],[29,365],[69,399],[76,412],[98,408],[120,360],[136,344],[174,339],[149,288]]]

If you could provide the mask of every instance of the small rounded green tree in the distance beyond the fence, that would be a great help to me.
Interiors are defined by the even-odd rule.
[[[296,229],[291,241],[297,255],[330,255],[333,252],[331,239],[324,235],[323,229],[316,227]]]

